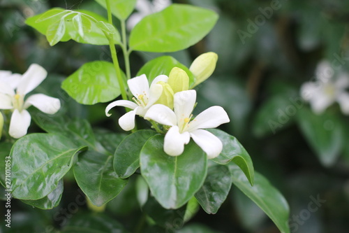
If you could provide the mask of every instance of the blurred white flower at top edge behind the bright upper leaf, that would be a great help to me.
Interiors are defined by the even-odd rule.
[[[143,17],[163,10],[170,6],[170,4],[170,0],[153,0],[152,2],[149,0],[138,0],[135,5],[135,9],[138,12],[133,13],[127,20],[126,26],[128,30],[131,31],[135,27],[135,24],[138,24]]]

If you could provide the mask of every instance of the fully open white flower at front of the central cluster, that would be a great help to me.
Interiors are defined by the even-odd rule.
[[[144,118],[147,120],[171,126],[165,135],[163,146],[168,155],[181,155],[184,145],[189,143],[190,138],[193,138],[210,159],[221,153],[223,148],[221,140],[204,129],[215,128],[229,122],[228,114],[221,106],[212,106],[191,120],[195,101],[195,90],[177,92],[174,94],[174,111],[162,104],[155,104],[145,114]]]

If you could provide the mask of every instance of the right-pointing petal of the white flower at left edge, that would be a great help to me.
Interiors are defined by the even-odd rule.
[[[61,101],[54,97],[48,97],[45,94],[33,94],[24,101],[24,109],[29,108],[31,105],[43,113],[54,114],[61,108]]]

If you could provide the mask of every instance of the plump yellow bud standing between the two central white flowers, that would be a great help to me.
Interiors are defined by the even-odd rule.
[[[189,76],[183,69],[174,67],[168,76],[168,84],[174,93],[189,89]]]

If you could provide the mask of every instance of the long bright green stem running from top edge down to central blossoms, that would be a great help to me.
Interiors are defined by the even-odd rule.
[[[107,4],[108,22],[112,24],[112,11],[110,10],[110,0],[105,0],[105,3]],[[112,38],[110,38],[110,36],[107,36],[107,39],[109,41],[110,53],[112,54],[112,62],[114,64],[115,71],[117,71],[117,81],[120,86],[121,97],[122,99],[128,99],[125,86],[124,86],[124,80],[121,76],[119,60],[117,59],[117,50],[115,49],[115,45],[114,45],[114,42],[112,41]]]

